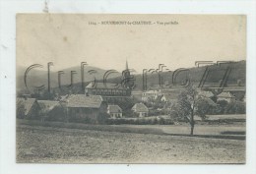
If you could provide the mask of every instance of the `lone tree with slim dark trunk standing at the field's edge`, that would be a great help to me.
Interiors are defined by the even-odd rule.
[[[192,136],[194,134],[195,115],[205,119],[206,114],[214,105],[214,101],[199,95],[196,87],[189,85],[179,94],[173,109],[178,113],[178,117],[185,119],[190,124],[190,135]]]

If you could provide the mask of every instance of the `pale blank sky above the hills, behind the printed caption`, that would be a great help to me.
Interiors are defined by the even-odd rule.
[[[152,25],[100,25],[151,21]],[[89,25],[95,22],[95,25]],[[175,25],[158,25],[158,22]],[[176,23],[177,22],[177,23]],[[155,23],[155,24],[154,24]],[[195,66],[195,61],[246,59],[246,17],[235,15],[18,15],[17,65],[52,70],[91,66],[122,71]]]

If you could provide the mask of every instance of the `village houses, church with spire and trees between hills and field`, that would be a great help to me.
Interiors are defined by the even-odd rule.
[[[127,62],[124,72],[122,79],[131,79]],[[184,88],[162,83],[140,90],[132,88],[131,82],[124,85],[91,82],[84,93],[55,94],[51,99],[22,94],[17,98],[17,118],[85,124],[175,124],[185,121],[174,109]],[[221,92],[209,87],[196,90],[198,96],[208,99],[208,105],[204,106],[206,115],[222,115],[245,114],[243,88],[239,82]]]

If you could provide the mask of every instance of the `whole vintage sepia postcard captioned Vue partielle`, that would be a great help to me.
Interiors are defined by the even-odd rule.
[[[246,163],[245,15],[17,14],[17,163]]]

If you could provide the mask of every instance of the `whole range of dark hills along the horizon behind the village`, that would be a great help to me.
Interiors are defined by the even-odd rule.
[[[225,69],[228,65],[222,64],[220,65],[212,65],[209,66],[209,76],[207,77],[206,83],[209,84],[219,84],[220,81],[224,77]],[[231,67],[231,72],[229,74],[229,78],[227,80],[227,84],[237,84],[237,81],[240,81],[241,84],[245,85],[246,83],[246,61],[239,61],[229,64]],[[95,71],[91,71],[95,70]],[[189,76],[191,81],[194,84],[199,84],[201,81],[204,72],[206,70],[206,66],[203,67],[193,67],[189,68]],[[17,68],[17,90],[23,92],[25,91],[24,85],[24,72],[26,71],[25,68]],[[58,88],[58,74],[57,72],[51,72],[51,87],[52,89],[56,90],[57,92],[64,94],[69,92],[69,88],[65,87],[70,85],[70,71],[76,71],[77,74],[74,78],[74,86],[72,88],[73,92],[84,92],[81,90],[81,70],[80,67],[72,67],[63,70],[65,75],[62,75],[61,84],[62,90]],[[91,72],[90,73],[88,72]],[[94,73],[95,72],[95,73]],[[89,82],[94,80],[94,76],[98,82],[102,82],[102,78],[106,70],[102,70],[96,67],[85,67],[85,85],[88,85]],[[162,83],[168,85],[168,87],[172,87],[172,75],[173,72],[163,72],[161,74]],[[180,73],[176,78],[176,83],[182,83],[186,77],[188,76],[187,72]],[[141,74],[134,75],[135,78],[135,85],[136,89],[142,90],[143,89],[143,76]],[[108,77],[108,83],[120,83],[121,73],[111,74],[111,77]],[[47,87],[47,72],[46,71],[39,71],[38,69],[32,70],[32,73],[28,77],[28,82],[31,86],[40,86],[45,85]],[[148,73],[148,88],[154,87],[159,84],[159,76],[155,74]]]

